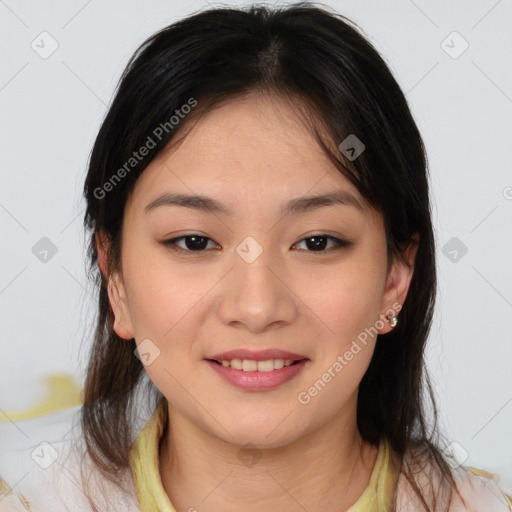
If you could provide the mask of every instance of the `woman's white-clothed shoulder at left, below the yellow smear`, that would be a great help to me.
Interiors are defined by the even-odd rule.
[[[105,479],[85,455],[79,413],[74,407],[0,424],[0,512],[89,512],[89,497],[102,511],[140,511],[134,494]]]

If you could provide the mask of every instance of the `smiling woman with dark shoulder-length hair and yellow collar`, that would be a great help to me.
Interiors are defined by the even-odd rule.
[[[99,316],[63,503],[512,510],[426,417],[427,160],[352,25],[212,9],[132,57],[84,189]]]

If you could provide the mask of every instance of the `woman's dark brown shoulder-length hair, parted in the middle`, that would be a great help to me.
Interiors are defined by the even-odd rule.
[[[357,424],[373,445],[389,441],[425,510],[442,508],[417,485],[413,466],[422,461],[432,462],[443,482],[451,484],[450,501],[451,489],[458,492],[449,456],[440,448],[425,368],[437,279],[425,148],[399,85],[354,25],[311,2],[209,9],[160,30],[130,59],[94,143],[84,187],[89,273],[99,297],[81,426],[88,454],[113,481],[129,468],[134,396],[144,386],[145,372],[134,356],[135,341],[121,339],[113,330],[108,280],[98,268],[97,236],[108,236],[110,275],[120,270],[127,198],[147,165],[192,119],[199,120],[221,101],[261,92],[289,100],[339,171],[382,213],[389,265],[403,259],[413,235],[419,234],[398,325],[376,344],[360,383]],[[191,105],[191,98],[196,106],[185,122],[180,119],[179,130],[173,129],[171,116]],[[365,144],[353,161],[338,149],[350,134]],[[154,147],[128,172],[126,163],[148,137]],[[119,173],[123,166],[127,172]],[[154,405],[162,397],[151,381],[142,392]],[[430,431],[427,395],[433,412]],[[403,463],[408,450],[411,466]]]

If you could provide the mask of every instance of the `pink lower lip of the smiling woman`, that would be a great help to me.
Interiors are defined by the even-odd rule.
[[[279,370],[272,370],[270,372],[233,370],[230,366],[222,366],[221,364],[208,360],[206,362],[223,379],[233,384],[233,386],[247,391],[265,391],[275,389],[293,379],[302,371],[304,366],[306,366],[307,361],[308,359],[303,359],[290,366],[284,366]]]

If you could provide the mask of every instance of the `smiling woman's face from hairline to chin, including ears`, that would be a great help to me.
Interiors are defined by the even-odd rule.
[[[352,199],[306,207],[332,193]],[[155,203],[165,194],[210,200]],[[398,315],[411,273],[395,264],[387,275],[381,215],[288,104],[254,95],[211,111],[138,179],[122,239],[114,328],[135,338],[171,415],[260,447],[355,422],[377,331],[390,330],[384,315]],[[242,370],[240,357],[227,356],[234,368],[209,361],[236,349],[254,356]],[[263,350],[305,361],[279,368],[286,356]],[[277,361],[249,371],[258,359]]]

